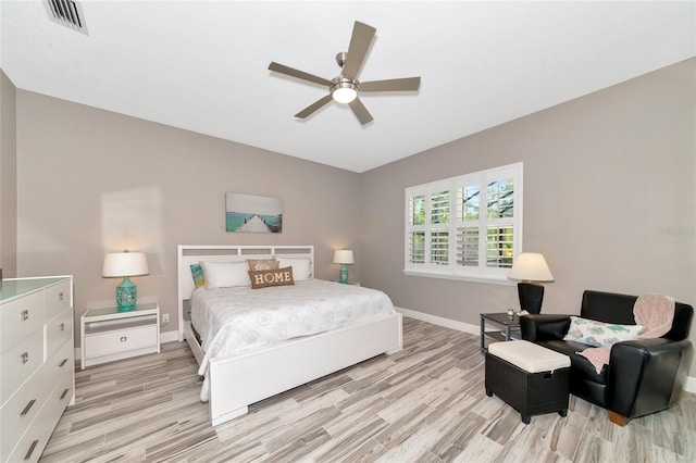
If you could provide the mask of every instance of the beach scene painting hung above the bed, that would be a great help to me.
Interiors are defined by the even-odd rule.
[[[225,229],[239,233],[281,233],[283,202],[279,198],[227,192]]]

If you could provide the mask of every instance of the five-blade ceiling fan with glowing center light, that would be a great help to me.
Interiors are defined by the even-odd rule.
[[[340,52],[336,55],[336,62],[341,70],[340,74],[331,80],[276,62],[272,62],[269,65],[269,70],[275,71],[276,73],[286,74],[291,77],[301,78],[302,80],[309,80],[314,84],[328,87],[330,93],[327,96],[304,108],[302,111],[295,114],[295,117],[304,118],[327,104],[331,100],[334,100],[338,103],[348,104],[353,114],[358,117],[358,121],[360,121],[362,125],[365,125],[371,122],[373,117],[358,98],[359,92],[418,90],[421,85],[420,77],[372,82],[358,80],[358,73],[362,67],[365,54],[368,53],[368,49],[370,48],[370,43],[372,43],[376,32],[377,29],[374,27],[356,21],[352,28],[352,37],[350,38],[348,52]]]

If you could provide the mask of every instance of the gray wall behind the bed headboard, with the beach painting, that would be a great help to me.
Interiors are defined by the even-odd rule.
[[[356,173],[24,90],[16,100],[17,271],[74,275],[76,322],[113,302],[107,252],[148,253],[150,274],[133,280],[171,314],[170,331],[177,245],[314,245],[327,279],[333,249],[357,245]],[[226,191],[281,198],[283,233],[226,233]]]

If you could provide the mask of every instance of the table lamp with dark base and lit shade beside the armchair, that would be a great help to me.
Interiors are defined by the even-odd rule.
[[[517,279],[520,309],[529,313],[542,312],[544,286],[539,281],[552,281],[554,275],[544,255],[537,252],[520,252],[512,263],[508,278]]]

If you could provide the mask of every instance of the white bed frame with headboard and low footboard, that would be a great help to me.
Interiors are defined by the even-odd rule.
[[[186,339],[200,364],[203,351],[190,322],[186,301],[194,290],[190,265],[200,261],[234,262],[271,256],[311,259],[313,246],[178,247],[178,338]],[[382,353],[402,349],[401,314],[377,315],[358,324],[291,339],[209,363],[210,418],[213,426],[249,411],[249,405]]]

